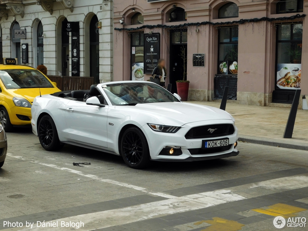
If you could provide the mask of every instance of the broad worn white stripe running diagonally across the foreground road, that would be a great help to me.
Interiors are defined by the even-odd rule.
[[[284,182],[284,184],[282,184]],[[126,208],[112,209],[96,213],[88,213],[63,219],[53,220],[53,222],[79,222],[84,223],[80,231],[90,231],[102,229],[114,225],[123,225],[136,221],[143,221],[150,218],[162,217],[170,214],[186,212],[196,209],[207,208],[231,201],[240,201],[245,198],[253,198],[271,193],[278,193],[295,188],[308,187],[308,174],[282,177],[273,180],[266,180],[253,184],[245,184],[227,188],[227,190],[215,190],[205,193],[197,193],[183,197],[155,201],[141,205],[134,205]],[[70,227],[71,228],[71,227]],[[69,230],[70,228],[58,227],[53,230]],[[21,230],[18,228],[10,230]],[[50,231],[50,228],[24,228],[22,230]]]

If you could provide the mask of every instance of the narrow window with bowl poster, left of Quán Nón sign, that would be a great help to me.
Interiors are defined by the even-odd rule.
[[[144,80],[144,33],[131,33],[131,80]]]

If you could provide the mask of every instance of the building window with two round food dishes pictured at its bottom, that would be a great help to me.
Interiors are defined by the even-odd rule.
[[[218,74],[237,74],[238,27],[218,28]]]

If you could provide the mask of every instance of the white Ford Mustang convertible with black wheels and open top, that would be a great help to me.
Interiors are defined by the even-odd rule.
[[[131,168],[144,168],[150,160],[211,160],[239,153],[228,112],[183,103],[179,95],[146,81],[38,96],[31,113],[33,133],[46,150],[64,144],[92,148],[121,155]]]

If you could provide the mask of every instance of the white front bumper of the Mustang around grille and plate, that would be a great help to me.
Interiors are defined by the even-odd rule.
[[[220,136],[214,138],[202,139],[186,139],[185,134],[193,127],[199,127],[209,124],[232,124],[232,120],[207,120],[184,124],[176,133],[164,133],[153,131],[148,124],[145,124],[141,129],[147,138],[152,160],[158,161],[195,161],[195,160],[211,160],[219,159],[228,156],[236,156],[239,152],[234,148],[234,143],[237,141],[237,128],[234,126],[234,133],[232,135]],[[192,155],[188,149],[197,149],[202,147],[202,140],[213,140],[229,138],[230,148],[222,152],[214,152],[207,154]],[[180,146],[182,154],[179,156],[165,156],[159,155],[162,149],[166,146]]]

